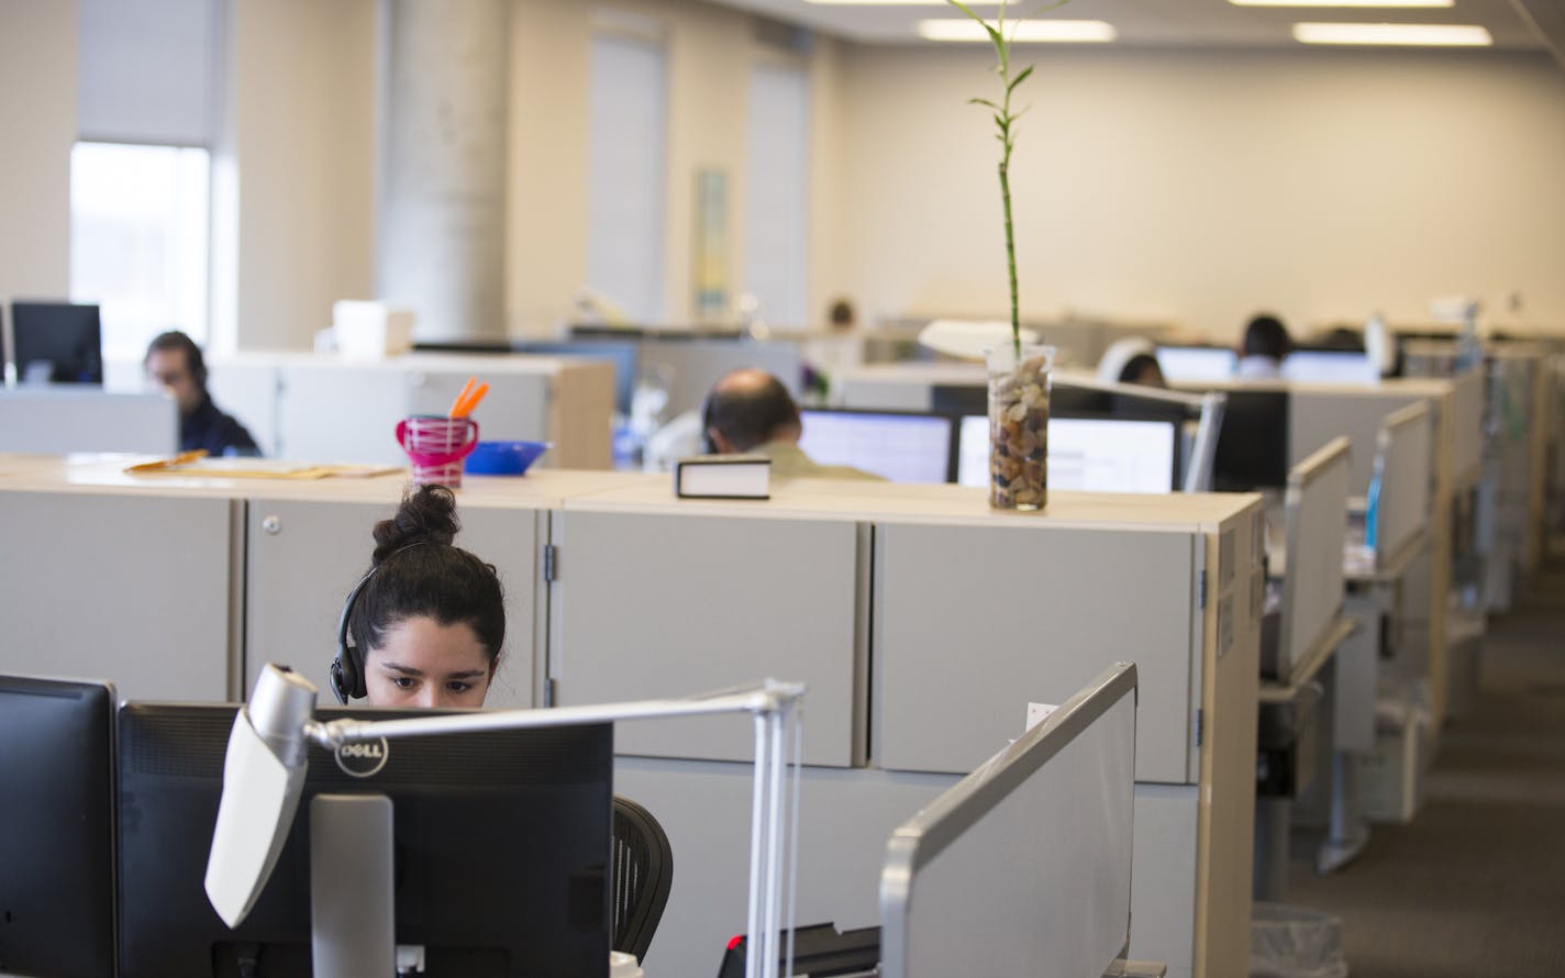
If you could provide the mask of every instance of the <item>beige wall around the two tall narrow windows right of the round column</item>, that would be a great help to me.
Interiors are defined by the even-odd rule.
[[[668,53],[664,297],[668,319],[689,322],[695,308],[695,178],[728,174],[729,293],[743,288],[747,105],[751,66],[779,55],[761,47],[745,14],[689,0],[620,0],[610,5],[646,19]],[[512,8],[510,228],[507,310],[512,333],[549,333],[571,318],[587,283],[587,117],[595,5],[581,0],[518,0]],[[801,61],[811,72],[815,131],[836,127],[836,53],[817,44]],[[812,221],[834,199],[834,138],[814,139]],[[828,241],[812,233],[811,307],[817,302]],[[833,266],[834,268],[834,263]],[[825,288],[825,286],[823,286]],[[834,286],[833,286],[834,288]]]

